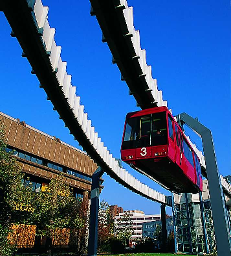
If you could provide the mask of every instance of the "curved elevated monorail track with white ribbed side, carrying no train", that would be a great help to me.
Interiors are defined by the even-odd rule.
[[[60,118],[63,119],[65,122],[65,125],[70,129],[71,133],[76,128],[82,130],[82,134],[80,136],[83,136],[87,139],[89,142],[88,149],[91,149],[91,152],[96,152],[98,157],[100,157],[101,162],[99,161],[99,158],[95,157],[94,154],[89,153],[89,151],[83,146],[83,148],[87,151],[87,153],[90,155],[90,157],[96,161],[97,164],[99,164],[107,174],[109,174],[111,177],[113,177],[116,181],[121,183],[122,185],[126,186],[133,192],[136,192],[137,194],[140,194],[141,196],[144,196],[148,199],[151,199],[153,201],[157,201],[159,203],[164,203],[166,205],[171,205],[171,200],[164,194],[157,192],[150,188],[149,186],[144,185],[144,183],[141,183],[133,177],[130,173],[128,173],[124,168],[121,168],[118,165],[118,161],[112,156],[112,154],[109,152],[106,146],[104,146],[104,142],[101,141],[101,138],[98,136],[98,133],[96,133],[94,126],[91,125],[91,120],[88,119],[87,113],[84,111],[84,106],[80,104],[80,97],[76,96],[76,87],[72,86],[71,83],[71,75],[69,75],[66,71],[67,62],[63,62],[61,59],[61,47],[56,45],[56,42],[54,40],[54,34],[55,29],[50,28],[49,21],[47,19],[48,14],[48,7],[43,6],[41,3],[41,0],[36,1],[26,1],[26,0],[19,0],[18,8],[22,8],[24,13],[20,14],[20,10],[17,12],[17,16],[12,15],[11,16],[11,6],[7,3],[8,1],[5,1],[3,3],[3,12],[5,12],[6,18],[8,19],[11,27],[12,27],[12,35],[16,36],[17,40],[19,40],[19,43],[21,44],[21,47],[23,49],[23,55],[28,58],[31,66],[32,66],[32,72],[36,73],[36,75],[39,77],[42,77],[43,74],[38,72],[38,68],[34,68],[32,64],[32,60],[30,59],[30,42],[24,42],[24,38],[21,37],[19,34],[19,31],[21,29],[20,25],[18,26],[17,21],[21,21],[23,23],[23,19],[25,20],[24,24],[28,24],[28,18],[31,19],[31,22],[34,22],[34,30],[32,31],[34,34],[37,34],[38,38],[35,38],[36,47],[38,46],[38,49],[41,51],[41,60],[45,60],[46,64],[48,63],[50,66],[45,67],[47,69],[52,69],[51,77],[49,79],[55,80],[58,82],[58,87],[56,95],[62,99],[61,103],[67,103],[63,105],[62,107],[68,107],[68,112],[71,113],[73,120],[77,121],[70,127],[69,123],[65,122],[65,116],[62,115],[60,112]],[[21,3],[19,3],[21,2]],[[25,8],[25,3],[27,3],[27,9],[24,10],[22,4]],[[16,9],[18,9],[16,7]],[[14,12],[14,10],[12,10]],[[17,20],[14,20],[17,19]],[[21,25],[23,27],[23,25]],[[25,29],[25,31],[28,32],[28,30],[31,29],[31,27],[28,27]],[[24,31],[24,32],[25,32]],[[33,33],[31,33],[31,37],[33,36]],[[36,37],[36,36],[34,36]],[[27,38],[28,39],[28,38]],[[25,38],[26,41],[26,38]],[[28,46],[29,45],[29,46]],[[34,44],[35,45],[35,44]],[[34,49],[34,48],[33,48]],[[43,51],[43,53],[42,53]],[[39,53],[40,54],[40,53]],[[34,60],[36,61],[36,60]],[[43,79],[39,79],[40,86],[45,88],[45,81]],[[51,85],[49,85],[51,86]],[[46,91],[47,92],[47,91]],[[52,93],[47,94],[48,99],[52,101],[54,108],[58,110],[57,106],[58,99],[52,96]],[[76,124],[78,127],[76,127]],[[73,127],[74,126],[74,127]],[[80,131],[80,130],[79,130]],[[78,136],[73,133],[76,140],[79,140]],[[90,145],[91,144],[91,145]],[[100,163],[99,163],[100,162]],[[102,166],[103,164],[103,166]]]

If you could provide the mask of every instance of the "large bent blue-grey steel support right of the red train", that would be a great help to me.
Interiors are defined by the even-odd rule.
[[[225,199],[221,186],[220,175],[217,170],[217,161],[215,159],[214,143],[211,131],[204,125],[193,119],[186,113],[179,114],[177,121],[186,123],[195,133],[202,138],[204,159],[206,163],[206,173],[208,187],[210,191],[210,203],[212,208],[212,218],[214,221],[215,239],[217,244],[218,256],[231,256],[230,237],[228,219],[226,216]]]

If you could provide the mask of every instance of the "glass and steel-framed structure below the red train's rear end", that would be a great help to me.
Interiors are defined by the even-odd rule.
[[[225,196],[227,218],[231,211]],[[177,251],[184,253],[212,253],[215,250],[215,233],[210,207],[208,181],[203,180],[203,192],[199,194],[174,194],[174,226]],[[231,231],[230,231],[231,238]]]

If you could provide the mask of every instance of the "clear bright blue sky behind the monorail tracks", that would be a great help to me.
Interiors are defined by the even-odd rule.
[[[65,3],[65,4],[63,4]],[[120,144],[127,112],[138,110],[120,72],[111,63],[107,44],[89,1],[43,1],[49,6],[50,27],[61,45],[61,57],[89,118],[113,156]],[[135,29],[173,115],[187,112],[212,130],[219,172],[230,175],[230,6],[228,1],[128,1]],[[52,110],[39,81],[30,74],[27,58],[10,37],[10,26],[0,13],[0,111],[78,147],[63,121]],[[193,138],[199,144],[199,139]],[[170,194],[130,169],[142,182]],[[158,203],[141,198],[104,175],[101,198],[124,209],[146,214],[160,212]],[[170,209],[167,211],[170,213]]]

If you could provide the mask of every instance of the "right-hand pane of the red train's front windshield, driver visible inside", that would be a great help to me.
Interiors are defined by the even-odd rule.
[[[152,114],[151,146],[166,145],[167,141],[166,112]]]

